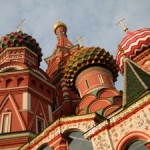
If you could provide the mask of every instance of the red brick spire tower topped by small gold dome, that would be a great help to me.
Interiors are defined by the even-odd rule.
[[[54,33],[58,42],[53,54],[45,61],[48,64],[46,73],[56,86],[55,105],[53,105],[53,109],[55,109],[53,118],[56,120],[61,116],[75,114],[75,108],[79,102],[78,95],[68,88],[64,78],[64,64],[68,57],[78,50],[78,46],[74,46],[68,40],[67,26],[64,23],[57,22],[54,26]]]

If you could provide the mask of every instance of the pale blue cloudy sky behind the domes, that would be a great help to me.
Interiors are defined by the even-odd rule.
[[[116,56],[117,46],[125,36],[118,20],[126,17],[130,31],[150,27],[150,0],[0,0],[0,36],[17,30],[22,19],[23,32],[32,35],[43,52],[41,68],[46,70],[44,58],[56,45],[53,26],[59,20],[68,26],[68,38],[76,44],[82,38],[84,46],[99,46]],[[119,76],[116,86],[122,88]]]

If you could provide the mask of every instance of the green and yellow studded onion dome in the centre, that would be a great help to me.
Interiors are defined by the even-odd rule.
[[[81,48],[68,59],[65,65],[65,78],[70,87],[74,86],[77,75],[90,66],[101,66],[111,71],[114,81],[118,77],[118,66],[113,56],[99,47]]]

